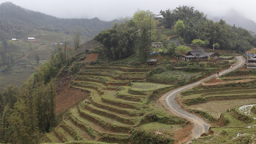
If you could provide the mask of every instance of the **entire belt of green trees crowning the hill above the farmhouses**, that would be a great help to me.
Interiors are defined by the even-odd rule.
[[[103,44],[101,57],[126,58],[138,51],[143,63],[150,53],[150,42],[157,40],[170,56],[178,54],[176,44],[166,40],[165,34],[157,33],[156,28],[164,26],[178,34],[181,44],[195,44],[198,47],[245,52],[256,46],[256,36],[245,28],[228,25],[225,20],[213,22],[206,19],[203,12],[194,7],[179,6],[162,12],[163,19],[156,21],[149,10],[138,10],[132,17],[121,19],[121,24],[101,31],[95,40]],[[165,51],[164,51],[165,52]]]

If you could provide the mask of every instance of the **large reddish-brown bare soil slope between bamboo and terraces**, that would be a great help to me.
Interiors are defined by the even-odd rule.
[[[57,114],[72,108],[89,95],[87,91],[81,91],[76,88],[69,88],[71,77],[63,76],[57,80],[56,108]]]

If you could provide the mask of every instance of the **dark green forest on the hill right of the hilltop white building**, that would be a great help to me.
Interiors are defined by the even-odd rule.
[[[219,44],[220,49],[245,52],[256,47],[256,36],[252,31],[245,28],[228,25],[225,20],[217,22],[206,19],[203,12],[194,10],[194,7],[179,6],[174,10],[165,10],[162,24],[166,28],[175,25],[178,20],[184,23],[184,28],[180,30],[180,35],[185,43],[190,44],[195,39],[209,41],[203,45],[212,48],[213,40]]]

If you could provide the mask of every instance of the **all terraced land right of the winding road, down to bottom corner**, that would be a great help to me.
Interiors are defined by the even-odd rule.
[[[255,78],[254,70],[241,68],[220,76],[234,81]],[[209,82],[211,83],[211,82]],[[193,143],[252,143],[255,133],[255,81],[196,86],[180,93],[190,110],[212,123],[208,133]]]

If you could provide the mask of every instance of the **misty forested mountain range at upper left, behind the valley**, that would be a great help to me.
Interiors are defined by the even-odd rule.
[[[81,35],[93,38],[100,31],[112,28],[112,21],[102,21],[97,17],[93,19],[60,19],[41,12],[24,9],[11,2],[0,4],[0,40],[21,38],[33,29],[72,34],[81,30]]]

